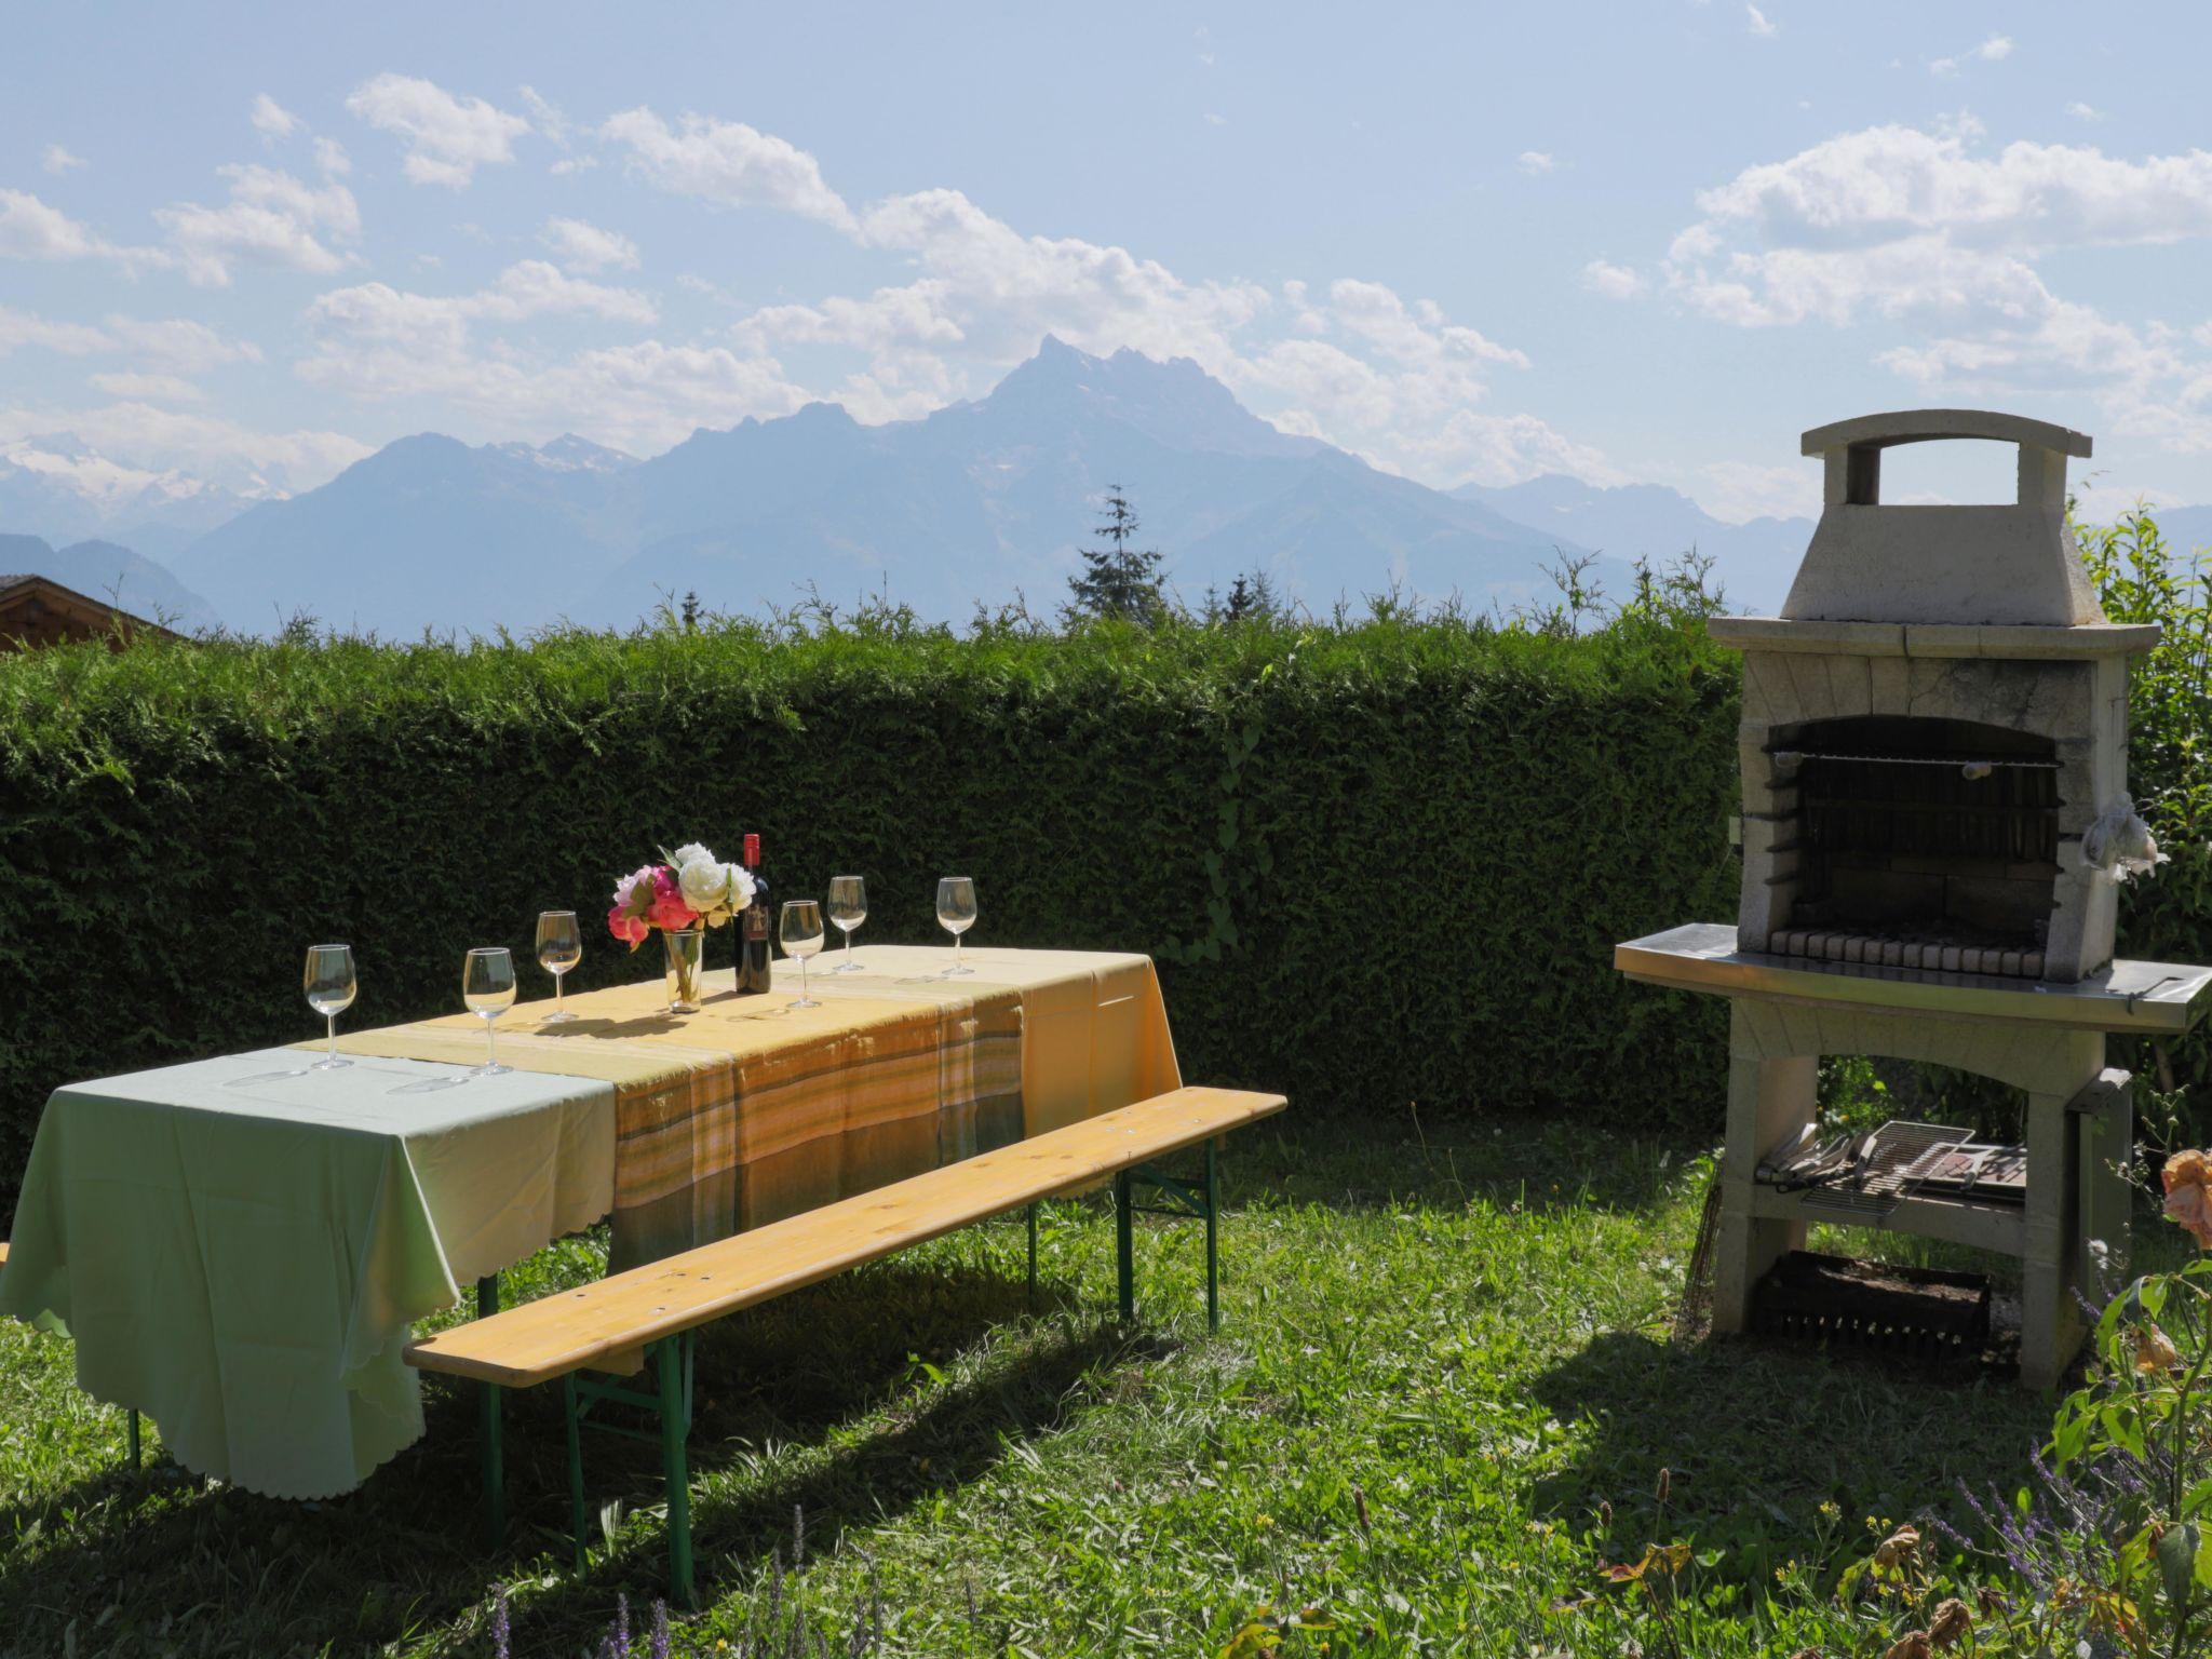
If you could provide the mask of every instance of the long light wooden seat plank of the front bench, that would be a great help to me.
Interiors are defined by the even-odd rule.
[[[708,1325],[993,1214],[1091,1186],[1283,1110],[1283,1095],[1177,1088],[407,1345],[407,1363],[531,1387]]]

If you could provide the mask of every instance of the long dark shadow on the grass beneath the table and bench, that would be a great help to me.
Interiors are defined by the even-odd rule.
[[[911,1389],[987,1332],[1040,1314],[1037,1340],[975,1380]],[[692,1528],[701,1606],[752,1586],[790,1548],[803,1509],[812,1551],[847,1524],[872,1524],[987,1473],[1011,1444],[1062,1427],[1086,1405],[1084,1380],[1166,1347],[1144,1334],[1079,1323],[1048,1285],[1031,1310],[1024,1285],[969,1267],[902,1263],[849,1274],[710,1327],[699,1352],[690,1440]],[[916,1356],[936,1356],[918,1360]],[[900,1409],[907,1394],[914,1409]],[[560,1573],[515,1615],[515,1652],[588,1648],[617,1593],[646,1606],[666,1593],[666,1531],[624,1526],[593,1540],[568,1575],[568,1484],[560,1391],[509,1394],[507,1542],[482,1535],[478,1396],[425,1391],[429,1431],[369,1482],[323,1504],[204,1486],[175,1464],[108,1471],[0,1506],[0,1652],[356,1652],[445,1630],[460,1652],[498,1584]],[[1104,1400],[1106,1389],[1095,1398]],[[891,1407],[885,1431],[841,1444],[841,1425]],[[774,1473],[750,1458],[779,1447]],[[794,1473],[779,1473],[796,1464]],[[664,1502],[659,1449],[586,1436],[591,1513],[619,1498],[633,1513]],[[44,1540],[44,1542],[40,1542]],[[31,1548],[27,1548],[27,1542]],[[352,1608],[349,1628],[332,1628]],[[102,1615],[106,1615],[102,1619]],[[66,1632],[75,1626],[75,1637]]]

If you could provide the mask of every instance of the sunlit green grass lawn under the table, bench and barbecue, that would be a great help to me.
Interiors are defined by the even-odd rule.
[[[1949,1509],[1960,1475],[2011,1491],[2051,1407],[1668,1345],[1701,1181],[1692,1148],[1557,1124],[1294,1113],[1230,1144],[1219,1336],[1194,1223],[1141,1228],[1141,1325],[1106,1318],[1095,1199],[1048,1210],[1035,1310],[1015,1219],[712,1327],[706,1610],[677,1650],[750,1652],[796,1615],[834,1652],[869,1617],[914,1655],[1663,1652],[1613,1604],[1555,1604],[1688,1537],[1686,1652],[1860,1652],[1783,1584],[1865,1553],[1869,1515]],[[593,1272],[571,1241],[513,1283]],[[542,1396],[511,1402],[489,1555],[460,1389],[431,1385],[429,1436],[363,1491],[281,1504],[208,1491],[157,1438],[122,1473],[122,1413],[73,1389],[69,1345],[4,1323],[0,1652],[489,1655],[502,1584],[515,1655],[591,1652],[617,1595],[659,1590],[657,1451],[586,1438],[611,1535],[575,1577]]]

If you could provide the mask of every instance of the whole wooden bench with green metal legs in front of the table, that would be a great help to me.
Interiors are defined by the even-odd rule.
[[[1115,1250],[1121,1318],[1135,1318],[1133,1217],[1135,1186],[1177,1201],[1175,1212],[1206,1221],[1206,1318],[1221,1323],[1217,1254],[1217,1141],[1232,1128],[1283,1110],[1281,1095],[1232,1088],[1177,1088],[1113,1113],[1035,1135],[1013,1146],[860,1192],[699,1250],[611,1274],[582,1290],[495,1312],[495,1292],[480,1292],[482,1318],[407,1345],[422,1371],[484,1385],[484,1502],[493,1540],[504,1531],[500,1462],[502,1389],[562,1385],[568,1438],[568,1506],[575,1557],[584,1562],[582,1429],[599,1402],[641,1407],[659,1418],[668,1475],[670,1588],[692,1601],[690,1489],[684,1442],[690,1429],[692,1332],[717,1318],[818,1283],[847,1267],[889,1256],[975,1221],[1024,1206],[1029,1212],[1029,1279],[1037,1279],[1035,1203],[1113,1179]],[[1203,1186],[1150,1168],[1152,1159],[1206,1148]],[[655,1365],[653,1391],[602,1380]],[[593,1425],[615,1427],[615,1425]],[[619,1429],[637,1433],[635,1429]]]

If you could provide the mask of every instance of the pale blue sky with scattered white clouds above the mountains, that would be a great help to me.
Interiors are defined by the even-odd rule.
[[[2212,500],[2197,4],[44,7],[0,100],[0,453],[310,487],[1194,356],[1431,484],[1805,511],[1982,405]],[[1938,445],[1891,491],[1991,498]],[[1944,453],[1964,451],[1964,453]]]

